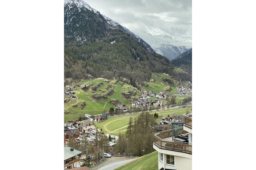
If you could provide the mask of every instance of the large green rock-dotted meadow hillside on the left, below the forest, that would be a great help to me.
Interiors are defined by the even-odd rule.
[[[81,81],[78,84],[76,84],[76,85],[81,85],[80,87],[77,87],[75,85],[77,90],[74,90],[73,92],[75,92],[74,95],[76,95],[78,99],[69,100],[68,103],[64,104],[64,111],[71,112],[68,114],[64,114],[65,121],[74,120],[74,118],[78,119],[79,116],[84,116],[85,113],[89,115],[98,115],[103,113],[104,110],[108,111],[109,108],[111,107],[116,108],[110,103],[110,100],[119,100],[121,103],[124,103],[125,105],[130,107],[131,101],[129,101],[129,99],[125,99],[123,95],[121,95],[121,92],[128,92],[129,90],[135,90],[136,91],[135,97],[138,98],[140,96],[140,91],[132,87],[131,85],[124,84],[124,86],[121,87],[120,86],[121,82],[114,84],[114,81],[111,81],[108,84],[112,85],[115,88],[115,92],[111,96],[108,96],[108,99],[102,99],[102,100],[96,101],[92,98],[93,94],[96,94],[96,93],[100,95],[106,94],[110,90],[110,89],[108,90],[104,89],[108,85],[106,82],[104,82],[104,80],[106,79],[94,79],[90,81]],[[92,86],[95,86],[100,82],[103,82],[104,84],[98,87],[95,93],[92,93],[91,89],[89,89],[86,92],[83,89],[81,89],[82,87],[84,87],[84,85],[88,86],[92,83]],[[104,92],[102,92],[103,90]],[[69,98],[66,97],[65,99],[69,99]],[[82,104],[83,101],[86,102],[86,106],[83,109],[80,109],[79,106],[80,104]],[[75,107],[75,108],[72,107],[75,104],[77,104],[78,107]]]

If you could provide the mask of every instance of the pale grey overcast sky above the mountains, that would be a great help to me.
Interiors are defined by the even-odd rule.
[[[170,35],[192,36],[192,0],[84,1],[135,34],[160,28]]]

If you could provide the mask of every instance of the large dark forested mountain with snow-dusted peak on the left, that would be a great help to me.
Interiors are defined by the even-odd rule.
[[[127,78],[137,85],[172,63],[127,28],[83,0],[64,0],[64,78]]]

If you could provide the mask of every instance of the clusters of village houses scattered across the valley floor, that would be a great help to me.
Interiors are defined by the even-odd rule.
[[[76,100],[77,96],[73,95],[73,90],[76,90],[76,87],[74,85],[72,86],[65,86],[64,87],[64,97],[70,97],[70,99]],[[161,116],[158,115],[157,111],[161,109],[167,109],[166,106],[164,107],[164,101],[166,98],[176,98],[179,95],[192,95],[192,89],[188,85],[184,85],[182,87],[178,87],[176,89],[178,93],[175,95],[170,95],[165,92],[160,92],[158,94],[154,94],[152,91],[141,91],[141,95],[137,99],[133,99],[131,103],[131,107],[127,107],[125,104],[117,104],[118,110],[122,112],[123,114],[133,114],[130,111],[131,108],[148,108],[152,106],[153,108],[158,108],[157,110],[152,110],[155,117],[160,117],[161,120],[159,122],[156,122],[157,131],[164,131],[169,129],[172,126],[172,123],[174,122],[180,122],[184,120],[184,115],[168,115],[168,116]],[[154,97],[156,100],[148,100],[149,97]],[[156,106],[156,107],[154,107]],[[183,107],[183,106],[182,106]],[[189,104],[185,107],[189,107]],[[115,152],[115,145],[116,140],[118,139],[118,136],[115,135],[108,135],[104,134],[102,129],[96,128],[97,123],[103,122],[108,120],[108,117],[110,114],[103,113],[101,115],[86,115],[86,120],[78,120],[76,122],[67,122],[64,124],[64,146],[68,147],[70,146],[70,142],[74,142],[79,145],[80,143],[83,143],[83,141],[86,139],[86,141],[89,143],[91,147],[96,147],[96,139],[97,135],[106,135],[106,137],[109,139],[108,145],[109,145],[109,153],[111,155],[120,155],[120,153]],[[123,153],[125,154],[125,153]],[[93,155],[83,155],[84,158],[90,157],[90,161],[93,160]],[[83,163],[83,157],[81,158],[81,161],[76,163],[77,167],[80,167]],[[80,164],[80,165],[79,165]]]

